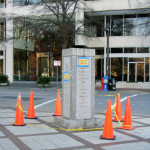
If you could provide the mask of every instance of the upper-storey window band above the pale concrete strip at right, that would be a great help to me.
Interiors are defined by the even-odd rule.
[[[85,16],[86,35],[103,37],[104,27],[109,28],[110,36],[150,35],[150,14]]]

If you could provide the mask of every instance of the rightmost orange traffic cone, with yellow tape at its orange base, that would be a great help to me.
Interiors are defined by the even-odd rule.
[[[131,120],[131,106],[130,106],[130,97],[127,97],[126,109],[125,109],[125,116],[123,121],[123,126],[120,129],[125,130],[133,130],[135,127],[132,127],[132,120]]]

